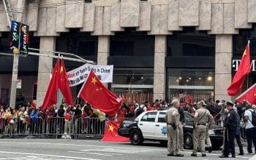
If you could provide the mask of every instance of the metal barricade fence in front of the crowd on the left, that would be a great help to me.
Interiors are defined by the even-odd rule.
[[[122,119],[134,120],[134,119]],[[117,119],[64,117],[26,117],[26,119],[0,118],[0,137],[26,137],[80,139],[86,137],[102,137],[108,121]],[[119,121],[121,122],[121,121]]]

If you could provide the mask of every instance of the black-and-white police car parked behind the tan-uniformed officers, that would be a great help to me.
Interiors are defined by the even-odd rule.
[[[165,122],[165,111],[146,111],[141,113],[134,121],[125,120],[118,129],[118,135],[129,137],[132,145],[141,145],[144,140],[159,141],[167,143],[167,127]],[[192,149],[193,121],[194,117],[188,112],[185,114],[184,148]],[[208,131],[213,148],[220,148],[223,143],[223,128],[211,125]]]

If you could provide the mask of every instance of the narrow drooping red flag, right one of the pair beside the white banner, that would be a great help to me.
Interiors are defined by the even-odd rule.
[[[61,76],[59,82],[59,89],[64,97],[65,103],[69,103],[69,105],[73,105],[72,94],[69,87],[69,81],[67,81],[67,73],[64,65],[64,60],[61,60]]]

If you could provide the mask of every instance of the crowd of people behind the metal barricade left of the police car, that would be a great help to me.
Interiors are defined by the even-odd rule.
[[[105,130],[105,113],[91,107],[61,104],[48,107],[45,111],[30,103],[16,108],[0,105],[0,136],[7,135],[102,135]]]

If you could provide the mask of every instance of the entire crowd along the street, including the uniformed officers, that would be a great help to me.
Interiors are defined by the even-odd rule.
[[[168,156],[183,156],[178,151],[184,151],[184,111],[195,117],[194,151],[191,156],[197,156],[197,147],[202,156],[206,156],[205,146],[211,152],[208,129],[213,121],[224,127],[225,130],[224,149],[221,158],[228,157],[230,153],[236,157],[235,138],[239,146],[239,155],[244,155],[241,137],[247,141],[248,153],[252,153],[252,143],[256,146],[256,135],[254,134],[256,127],[252,122],[256,106],[247,103],[246,100],[241,104],[238,102],[233,104],[225,100],[216,100],[214,103],[213,99],[209,99],[207,103],[205,100],[200,100],[197,103],[184,103],[174,98],[170,104],[165,100],[155,100],[152,105],[148,101],[139,104],[137,100],[133,100],[128,104],[122,103],[116,119],[121,123],[125,118],[134,119],[140,113],[151,110],[167,110]],[[0,136],[3,133],[8,135],[48,133],[49,135],[59,134],[68,138],[72,133],[102,135],[107,119],[110,119],[108,115],[89,105],[89,103],[74,106],[61,104],[58,108],[56,105],[52,105],[45,111],[41,111],[40,108],[36,108],[30,103],[17,105],[13,109],[10,106],[0,105]],[[176,134],[173,134],[174,132]],[[178,137],[173,137],[173,135]],[[173,148],[174,145],[171,143],[176,143],[176,148]]]

